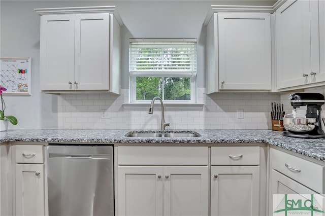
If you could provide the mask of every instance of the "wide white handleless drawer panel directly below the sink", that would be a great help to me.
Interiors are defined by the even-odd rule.
[[[124,147],[118,165],[208,165],[208,147]]]

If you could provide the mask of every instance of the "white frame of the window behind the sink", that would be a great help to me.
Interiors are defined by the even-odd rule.
[[[160,42],[194,42],[196,43],[196,39],[130,39],[130,43],[134,42],[152,42],[152,43],[160,43]],[[196,45],[197,46],[197,45]],[[197,50],[197,48],[196,48]],[[154,74],[149,71],[135,71],[131,69],[131,52],[129,52],[129,103],[148,103],[151,100],[136,100],[136,78],[137,76],[143,77],[189,77],[190,78],[190,100],[164,100],[164,103],[169,104],[193,104],[197,103],[197,56],[195,60],[195,65],[191,71],[163,71],[158,72],[155,71]],[[148,74],[150,73],[150,74]],[[168,76],[166,76],[168,75]]]

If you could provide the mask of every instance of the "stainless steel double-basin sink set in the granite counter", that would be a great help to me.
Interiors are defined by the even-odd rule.
[[[127,137],[169,137],[169,138],[177,138],[177,137],[199,137],[201,136],[199,133],[195,131],[154,131],[154,132],[143,132],[143,131],[132,131],[125,134]]]

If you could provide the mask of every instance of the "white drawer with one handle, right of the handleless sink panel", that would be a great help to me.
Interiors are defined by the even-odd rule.
[[[258,165],[259,147],[211,147],[211,165]]]

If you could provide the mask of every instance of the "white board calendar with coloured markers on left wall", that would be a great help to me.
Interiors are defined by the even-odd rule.
[[[31,58],[0,58],[0,85],[3,94],[30,95]]]

